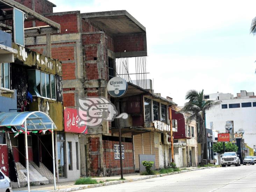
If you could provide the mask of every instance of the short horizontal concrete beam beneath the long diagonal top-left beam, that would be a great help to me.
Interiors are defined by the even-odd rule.
[[[31,27],[31,28],[24,29],[25,37],[36,37],[40,35],[57,34],[57,33],[59,33],[59,29],[56,29],[50,26]]]

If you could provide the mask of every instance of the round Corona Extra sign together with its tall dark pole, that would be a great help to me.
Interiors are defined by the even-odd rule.
[[[121,77],[113,77],[108,81],[107,90],[112,97],[115,97],[116,110],[118,111],[119,114],[120,114],[119,100],[117,98],[124,95],[127,92],[127,89],[128,89],[127,82],[125,79]],[[120,171],[121,171],[121,179],[123,179],[122,141],[121,141],[121,127],[119,125],[119,119],[117,119],[117,122],[119,127]]]

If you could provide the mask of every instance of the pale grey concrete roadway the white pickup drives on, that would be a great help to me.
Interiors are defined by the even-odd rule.
[[[118,185],[96,187],[79,190],[90,191],[120,191],[120,192],[154,192],[154,191],[197,191],[197,192],[255,192],[256,165],[241,165],[239,167],[212,168],[191,171],[129,182]]]

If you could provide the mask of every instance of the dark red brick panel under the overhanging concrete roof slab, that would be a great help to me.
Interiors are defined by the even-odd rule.
[[[143,34],[120,35],[114,38],[115,52],[144,51]]]

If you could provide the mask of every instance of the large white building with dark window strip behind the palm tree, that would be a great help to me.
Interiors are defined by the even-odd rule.
[[[226,133],[226,121],[234,125],[234,133],[244,129],[244,141],[250,147],[256,145],[256,96],[254,92],[241,91],[234,97],[230,93],[205,94],[207,100],[219,100],[221,104],[206,112],[206,128]]]

